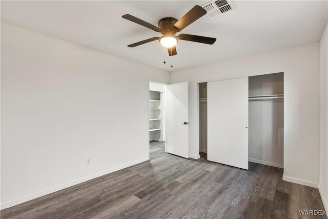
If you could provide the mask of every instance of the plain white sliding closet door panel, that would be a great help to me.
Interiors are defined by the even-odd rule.
[[[208,82],[208,160],[248,169],[248,77]]]

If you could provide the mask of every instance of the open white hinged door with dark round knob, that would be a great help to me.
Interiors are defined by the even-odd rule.
[[[168,85],[167,92],[167,151],[188,158],[188,82]]]

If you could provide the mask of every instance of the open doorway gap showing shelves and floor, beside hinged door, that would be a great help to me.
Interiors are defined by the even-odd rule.
[[[166,85],[149,83],[149,146],[166,152]]]

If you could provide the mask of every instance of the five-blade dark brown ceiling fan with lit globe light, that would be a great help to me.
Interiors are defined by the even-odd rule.
[[[161,37],[153,37],[153,38],[145,39],[144,41],[140,41],[128,45],[128,47],[136,47],[145,43],[158,40],[162,46],[168,48],[169,55],[171,56],[177,54],[175,45],[178,42],[178,39],[181,39],[182,41],[192,41],[192,42],[212,45],[216,41],[216,38],[183,34],[183,33],[178,36],[175,35],[176,32],[183,30],[184,28],[186,28],[187,26],[189,26],[190,24],[192,24],[194,21],[196,21],[197,19],[199,19],[205,14],[206,14],[206,10],[196,5],[185,15],[183,15],[179,20],[177,20],[174,17],[161,18],[158,21],[158,27],[149,24],[148,22],[142,21],[141,19],[132,16],[130,14],[125,14],[122,16],[123,18],[128,19],[129,21],[132,21],[139,25],[142,25],[144,27],[147,27],[156,32],[160,32],[163,35]]]

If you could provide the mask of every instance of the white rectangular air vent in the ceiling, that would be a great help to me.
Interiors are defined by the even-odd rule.
[[[202,5],[201,7],[207,11],[206,16],[209,19],[213,19],[220,14],[235,9],[234,5],[229,0],[211,1]]]

